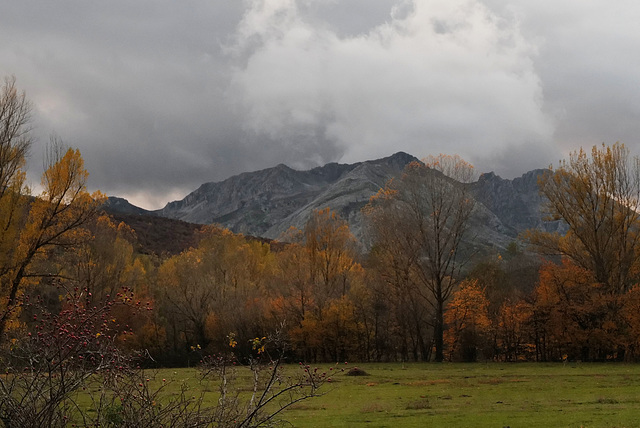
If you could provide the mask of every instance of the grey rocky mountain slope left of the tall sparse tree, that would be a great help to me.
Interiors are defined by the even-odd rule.
[[[234,232],[276,239],[290,226],[303,227],[313,210],[328,206],[360,235],[361,208],[414,160],[400,152],[351,165],[330,163],[309,171],[278,165],[205,183],[155,214],[193,223],[218,223]]]

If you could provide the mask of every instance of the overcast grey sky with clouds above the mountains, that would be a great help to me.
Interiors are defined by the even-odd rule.
[[[29,0],[0,5],[0,77],[89,188],[147,209],[279,163],[458,154],[513,178],[640,145],[628,0]]]

